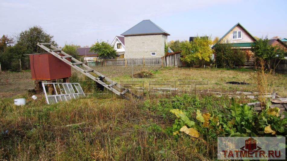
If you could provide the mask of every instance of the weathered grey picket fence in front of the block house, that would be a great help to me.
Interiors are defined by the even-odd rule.
[[[85,63],[88,66],[155,66],[164,67],[164,57],[155,58],[118,58],[108,60],[87,60]]]

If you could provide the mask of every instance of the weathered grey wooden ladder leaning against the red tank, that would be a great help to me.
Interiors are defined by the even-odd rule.
[[[111,92],[114,92],[116,95],[121,96],[122,98],[125,99],[129,99],[127,96],[125,96],[125,93],[130,93],[131,95],[133,95],[136,98],[140,98],[140,96],[135,95],[134,93],[132,93],[129,89],[124,88],[123,86],[121,86],[120,84],[118,84],[117,82],[112,81],[111,79],[109,79],[108,77],[102,75],[101,73],[95,71],[94,69],[90,68],[89,66],[85,65],[83,62],[76,60],[75,58],[73,58],[73,56],[70,56],[69,54],[63,52],[61,49],[53,46],[51,43],[37,43],[37,45],[39,47],[41,47],[42,49],[46,50],[47,52],[51,53],[53,56],[56,56],[57,58],[59,58],[60,60],[62,60],[63,62],[65,62],[66,64],[69,64],[71,67],[75,68],[76,70],[78,70],[79,72],[81,72],[82,74],[84,74],[85,76],[91,78],[92,80],[94,80],[95,82],[103,85],[105,88],[107,88],[108,90],[110,90]],[[46,47],[45,45],[50,45],[49,49],[48,47]],[[63,54],[64,56],[60,56],[59,54]],[[75,63],[70,62],[69,60],[67,60],[66,58],[70,58],[71,60],[73,60]],[[80,68],[79,66],[83,67],[84,69]],[[90,72],[95,73],[97,76],[101,76],[103,78],[103,80],[109,82],[109,84],[106,84],[105,82],[101,81],[100,78],[93,76],[92,74],[90,74]],[[118,91],[117,89],[114,88],[117,87],[118,89],[121,89],[122,92]]]

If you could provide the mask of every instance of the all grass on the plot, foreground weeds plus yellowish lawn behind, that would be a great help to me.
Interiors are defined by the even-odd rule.
[[[145,82],[208,80],[210,85],[204,88],[234,90],[235,86],[224,82],[245,81],[251,85],[242,90],[256,91],[250,77],[253,70],[146,69],[153,71],[154,78],[140,79]],[[131,68],[99,67],[97,70],[115,81],[131,80]],[[139,70],[141,67],[134,68],[134,72]],[[5,73],[0,76],[4,78],[14,74]],[[25,75],[25,81],[29,79],[27,72],[16,74]],[[77,75],[77,72],[73,71],[73,75]],[[286,96],[286,75],[276,74],[273,79],[275,91]],[[17,81],[17,78],[13,81]],[[21,83],[21,79],[18,82]],[[8,83],[2,81],[1,89],[5,89]],[[17,83],[14,85],[14,88],[5,89],[5,92],[17,91]],[[27,98],[27,105],[13,105],[13,99],[20,97]],[[195,121],[197,109],[213,114],[214,109],[222,110],[224,105],[230,105],[228,97],[183,95],[171,99],[144,98],[128,101],[78,99],[47,105],[43,97],[34,101],[29,93],[9,95],[0,99],[0,159],[213,160],[217,158],[216,134],[210,132],[198,139],[186,134],[174,136],[173,124],[176,116],[169,110],[185,110],[189,118],[194,118]]]

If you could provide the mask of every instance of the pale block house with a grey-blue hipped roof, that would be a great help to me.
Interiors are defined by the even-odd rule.
[[[121,34],[124,36],[125,58],[162,57],[169,35],[150,20],[143,20]]]

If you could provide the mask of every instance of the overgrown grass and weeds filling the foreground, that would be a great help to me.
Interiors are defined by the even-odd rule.
[[[29,98],[31,95],[24,95]],[[194,160],[214,158],[209,144],[174,138],[171,108],[221,108],[224,98],[176,97],[126,101],[79,99],[25,106],[0,101],[1,159],[8,160]],[[228,99],[226,99],[228,102]],[[6,132],[7,131],[7,132]]]

